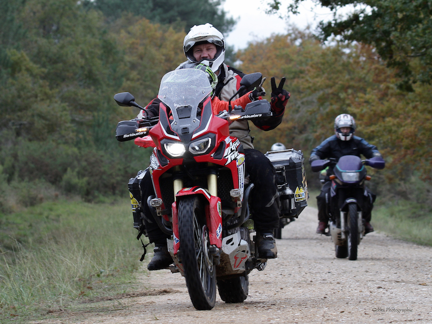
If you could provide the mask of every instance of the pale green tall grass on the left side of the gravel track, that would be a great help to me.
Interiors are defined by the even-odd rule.
[[[140,243],[127,200],[47,202],[0,219],[2,322],[133,288]]]

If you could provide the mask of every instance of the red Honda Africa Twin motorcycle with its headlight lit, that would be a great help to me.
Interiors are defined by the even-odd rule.
[[[244,76],[238,92],[258,86],[261,79],[261,73]],[[120,141],[135,139],[137,145],[155,147],[148,172],[156,197],[147,203],[161,229],[171,235],[170,269],[184,276],[198,310],[214,307],[216,286],[225,302],[243,302],[249,273],[264,270],[267,261],[251,238],[248,199],[254,184],[245,184],[242,146],[230,136],[228,125],[234,119],[269,117],[270,104],[259,100],[216,116],[211,91],[204,72],[172,71],[161,81],[157,123],[147,121],[137,128],[136,122],[124,121],[116,130]],[[114,99],[120,106],[142,109],[129,92]],[[140,199],[131,198],[136,210]]]

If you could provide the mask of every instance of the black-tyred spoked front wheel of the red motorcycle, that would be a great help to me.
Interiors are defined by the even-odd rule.
[[[178,232],[181,263],[192,304],[198,310],[212,309],[216,302],[216,270],[208,253],[204,206],[198,197],[178,202]]]

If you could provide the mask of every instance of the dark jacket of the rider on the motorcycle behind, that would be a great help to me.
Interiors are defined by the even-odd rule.
[[[344,155],[360,155],[366,158],[381,156],[375,145],[367,143],[364,139],[354,136],[350,141],[341,141],[336,135],[330,136],[312,150],[309,162],[317,159],[335,158],[338,160]]]

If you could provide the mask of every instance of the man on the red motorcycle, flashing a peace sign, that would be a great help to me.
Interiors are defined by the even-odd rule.
[[[180,64],[177,69],[188,68],[191,63],[203,63],[218,76],[213,91],[214,98],[220,101],[228,101],[237,92],[244,74],[224,63],[225,40],[218,29],[209,23],[193,26],[184,38],[183,51],[188,61]],[[285,106],[290,98],[289,92],[283,89],[283,81],[276,87],[274,78],[271,79],[271,110],[273,116],[265,121],[253,121],[257,127],[264,131],[270,131],[282,121]],[[248,96],[250,100],[256,99],[260,94],[257,90]],[[243,94],[240,93],[240,95]],[[238,98],[238,96],[235,98]],[[158,116],[159,103],[159,99],[152,100],[137,118]],[[277,249],[273,231],[279,226],[280,202],[273,166],[263,153],[254,149],[253,138],[249,135],[250,128],[247,120],[233,121],[229,129],[230,135],[238,138],[242,144],[246,160],[246,172],[255,184],[255,188],[259,188],[259,190],[254,189],[251,194],[251,211],[257,231],[258,252],[263,258],[275,258],[277,257]],[[143,177],[140,187],[145,229],[150,243],[155,243],[153,258],[147,268],[148,270],[165,269],[172,263],[172,258],[166,245],[168,236],[159,228],[146,204],[147,197],[155,195],[149,172]]]

